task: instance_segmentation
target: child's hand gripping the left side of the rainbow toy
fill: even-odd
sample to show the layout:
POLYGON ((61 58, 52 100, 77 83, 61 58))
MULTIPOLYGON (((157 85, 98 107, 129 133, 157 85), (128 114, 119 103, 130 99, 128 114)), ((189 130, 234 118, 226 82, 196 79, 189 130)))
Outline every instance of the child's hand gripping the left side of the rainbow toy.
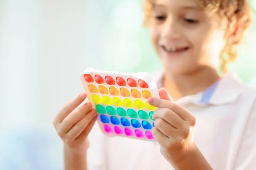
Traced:
POLYGON ((53 120, 53 125, 63 140, 64 147, 75 153, 84 153, 89 147, 87 136, 97 119, 96 111, 92 109, 90 102, 77 108, 84 99, 86 94, 82 93, 68 102, 53 120))

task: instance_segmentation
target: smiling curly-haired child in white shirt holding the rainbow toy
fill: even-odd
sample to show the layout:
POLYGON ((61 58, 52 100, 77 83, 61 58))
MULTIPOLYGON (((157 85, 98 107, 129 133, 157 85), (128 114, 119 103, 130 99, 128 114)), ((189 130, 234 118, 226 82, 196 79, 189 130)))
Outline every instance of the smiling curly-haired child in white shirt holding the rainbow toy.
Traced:
POLYGON ((255 170, 256 91, 225 73, 250 23, 247 0, 146 0, 145 23, 164 70, 157 142, 108 138, 82 93, 53 121, 66 170, 255 170), (170 98, 175 101, 173 102, 170 98), (76 109, 76 110, 75 110, 76 109), (87 139, 90 133, 90 147, 87 139), (94 139, 93 139, 94 138, 94 139))

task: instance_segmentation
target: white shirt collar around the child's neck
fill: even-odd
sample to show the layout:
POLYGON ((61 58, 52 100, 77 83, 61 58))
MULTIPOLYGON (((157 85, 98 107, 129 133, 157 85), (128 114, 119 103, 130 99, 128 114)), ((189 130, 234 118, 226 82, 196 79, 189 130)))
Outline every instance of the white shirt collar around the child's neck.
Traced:
MULTIPOLYGON (((153 74, 157 82, 157 87, 162 87, 163 71, 158 71, 153 74)), ((218 84, 212 96, 209 99, 208 105, 224 105, 234 102, 242 93, 246 86, 235 73, 227 73, 218 80, 218 84)), ((193 103, 195 105, 206 105, 201 103, 204 91, 195 95, 185 96, 176 101, 178 104, 193 103)))

